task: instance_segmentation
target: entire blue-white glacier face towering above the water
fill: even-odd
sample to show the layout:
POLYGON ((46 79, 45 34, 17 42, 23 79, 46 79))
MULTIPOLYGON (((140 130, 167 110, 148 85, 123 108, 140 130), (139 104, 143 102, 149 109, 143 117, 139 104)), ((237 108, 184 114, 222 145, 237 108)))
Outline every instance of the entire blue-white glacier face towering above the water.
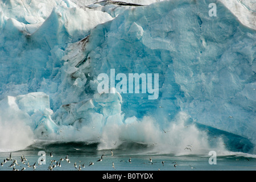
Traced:
POLYGON ((254 2, 217 1, 217 16, 210 3, 1 1, 0 151, 54 140, 255 154, 254 2), (98 93, 110 69, 158 73, 158 99, 98 93))

